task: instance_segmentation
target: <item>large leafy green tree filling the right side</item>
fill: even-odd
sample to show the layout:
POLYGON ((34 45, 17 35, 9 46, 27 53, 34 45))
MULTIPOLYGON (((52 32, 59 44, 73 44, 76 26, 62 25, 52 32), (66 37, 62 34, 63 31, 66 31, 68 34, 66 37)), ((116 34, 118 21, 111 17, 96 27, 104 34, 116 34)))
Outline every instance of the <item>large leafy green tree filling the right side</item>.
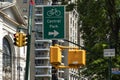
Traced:
MULTIPOLYGON (((90 50, 82 74, 92 80, 106 80, 108 64, 103 57, 104 48, 115 48, 117 55, 112 60, 116 62, 112 65, 120 67, 120 0, 78 0, 77 3, 79 25, 82 25, 79 31, 85 47, 90 50)), ((112 78, 117 80, 117 77, 112 78)))

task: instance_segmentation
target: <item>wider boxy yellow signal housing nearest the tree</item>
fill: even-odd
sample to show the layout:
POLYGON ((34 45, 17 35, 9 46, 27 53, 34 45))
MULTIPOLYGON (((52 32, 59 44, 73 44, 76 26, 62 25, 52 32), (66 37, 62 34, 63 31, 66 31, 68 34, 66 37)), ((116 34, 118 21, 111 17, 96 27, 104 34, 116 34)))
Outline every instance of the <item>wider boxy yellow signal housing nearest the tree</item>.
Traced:
POLYGON ((85 50, 69 50, 68 51, 68 66, 79 67, 86 64, 85 50))

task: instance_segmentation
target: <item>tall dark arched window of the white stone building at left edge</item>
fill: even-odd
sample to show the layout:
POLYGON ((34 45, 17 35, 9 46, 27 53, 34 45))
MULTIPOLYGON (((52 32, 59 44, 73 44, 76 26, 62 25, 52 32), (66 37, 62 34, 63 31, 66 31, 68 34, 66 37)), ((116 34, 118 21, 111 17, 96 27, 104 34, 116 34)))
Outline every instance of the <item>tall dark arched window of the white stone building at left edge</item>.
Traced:
POLYGON ((12 80, 12 54, 9 41, 3 38, 3 80, 12 80))

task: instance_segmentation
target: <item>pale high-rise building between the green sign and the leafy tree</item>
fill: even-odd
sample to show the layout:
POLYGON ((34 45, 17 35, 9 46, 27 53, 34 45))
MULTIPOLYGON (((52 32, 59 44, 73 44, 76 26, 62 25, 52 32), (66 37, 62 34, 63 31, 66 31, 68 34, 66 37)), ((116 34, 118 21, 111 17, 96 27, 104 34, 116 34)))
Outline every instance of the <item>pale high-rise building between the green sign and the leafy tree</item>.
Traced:
MULTIPOLYGON (((78 16, 79 15, 75 9, 73 9, 72 11, 66 12, 66 39, 76 44, 78 44, 78 16)), ((73 46, 73 47, 76 46, 69 42, 65 42, 64 45, 73 46)), ((65 56, 64 63, 67 65, 68 64, 67 51, 65 51, 64 56, 65 56)), ((64 79, 78 80, 79 79, 78 70, 65 69, 64 79)))

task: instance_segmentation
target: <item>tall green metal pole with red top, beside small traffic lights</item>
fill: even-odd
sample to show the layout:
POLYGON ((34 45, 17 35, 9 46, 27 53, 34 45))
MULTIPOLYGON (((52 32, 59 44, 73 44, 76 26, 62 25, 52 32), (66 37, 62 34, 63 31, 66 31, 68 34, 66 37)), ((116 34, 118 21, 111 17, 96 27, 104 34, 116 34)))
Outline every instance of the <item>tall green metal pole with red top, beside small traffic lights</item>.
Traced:
POLYGON ((27 54, 26 54, 26 69, 25 80, 29 80, 29 68, 30 68, 30 44, 31 44, 31 31, 32 31, 32 13, 33 13, 33 0, 29 1, 29 16, 28 16, 28 39, 27 39, 27 54))

